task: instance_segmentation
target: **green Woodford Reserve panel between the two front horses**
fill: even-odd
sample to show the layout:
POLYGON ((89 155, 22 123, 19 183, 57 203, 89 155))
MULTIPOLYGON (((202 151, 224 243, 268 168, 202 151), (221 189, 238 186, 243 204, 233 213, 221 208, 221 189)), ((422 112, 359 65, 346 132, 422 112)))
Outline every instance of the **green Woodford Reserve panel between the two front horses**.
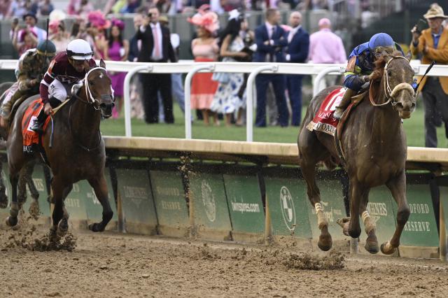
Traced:
POLYGON ((150 171, 160 226, 188 227, 188 208, 179 171, 150 171))

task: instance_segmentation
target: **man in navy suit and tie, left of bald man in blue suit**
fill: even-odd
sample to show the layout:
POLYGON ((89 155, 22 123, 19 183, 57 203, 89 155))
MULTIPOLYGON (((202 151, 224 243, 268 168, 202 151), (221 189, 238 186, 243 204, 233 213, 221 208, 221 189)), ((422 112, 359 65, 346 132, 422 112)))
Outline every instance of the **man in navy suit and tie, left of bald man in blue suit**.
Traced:
MULTIPOLYGON (((275 8, 266 11, 266 22, 255 29, 255 43, 257 50, 253 55, 253 62, 285 62, 284 47, 288 44, 286 32, 279 26, 280 13, 275 8)), ((288 126, 288 108, 285 98, 285 76, 260 74, 255 79, 257 87, 257 115, 255 126, 266 127, 266 90, 272 83, 279 109, 279 124, 288 126)))

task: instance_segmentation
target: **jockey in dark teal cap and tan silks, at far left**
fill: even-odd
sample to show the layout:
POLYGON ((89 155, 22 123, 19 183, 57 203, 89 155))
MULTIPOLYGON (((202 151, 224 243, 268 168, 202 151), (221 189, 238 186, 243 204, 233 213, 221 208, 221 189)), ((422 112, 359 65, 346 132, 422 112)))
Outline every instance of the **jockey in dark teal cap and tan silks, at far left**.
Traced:
POLYGON ((15 69, 17 82, 10 87, 1 105, 1 127, 8 126, 11 109, 15 101, 22 97, 31 97, 38 94, 43 73, 48 69, 48 65, 55 54, 55 44, 47 40, 41 41, 37 48, 27 50, 20 56, 18 67, 15 69))

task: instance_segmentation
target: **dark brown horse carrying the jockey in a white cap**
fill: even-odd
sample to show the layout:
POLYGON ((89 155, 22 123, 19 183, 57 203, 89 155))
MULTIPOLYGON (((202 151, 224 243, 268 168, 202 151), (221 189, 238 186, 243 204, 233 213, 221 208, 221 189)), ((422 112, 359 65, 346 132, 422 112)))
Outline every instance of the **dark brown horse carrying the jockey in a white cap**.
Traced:
MULTIPOLYGON (((113 108, 111 79, 107 76, 106 65, 101 60, 99 67, 87 71, 77 94, 52 115, 52 125, 48 125, 43 133, 43 150, 52 171, 52 203, 55 208, 52 213, 53 225, 50 234, 66 232, 66 210, 64 199, 71 191, 73 183, 86 179, 93 187, 99 202, 103 207, 101 222, 89 226, 93 232, 102 232, 111 220, 113 212, 109 205, 106 179, 104 178, 104 164, 106 153, 104 141, 99 132, 102 118, 109 118, 113 108), (54 142, 50 143, 53 130, 54 142)), ((9 139, 7 141, 8 165, 10 182, 13 187, 10 216, 6 224, 14 226, 18 222, 17 185, 18 174, 27 162, 38 158, 38 153, 25 155, 22 151, 22 117, 29 104, 36 97, 30 97, 18 108, 15 115, 9 139)))

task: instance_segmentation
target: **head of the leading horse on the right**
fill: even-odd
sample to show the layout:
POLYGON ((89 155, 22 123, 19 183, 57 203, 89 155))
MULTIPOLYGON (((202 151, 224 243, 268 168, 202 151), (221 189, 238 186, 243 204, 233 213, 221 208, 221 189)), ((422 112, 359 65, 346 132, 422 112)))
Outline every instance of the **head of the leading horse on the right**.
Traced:
POLYGON ((414 70, 409 64, 411 57, 410 52, 406 57, 401 52, 384 53, 375 63, 382 66, 380 85, 384 87, 384 95, 402 119, 410 118, 415 109, 414 70))

